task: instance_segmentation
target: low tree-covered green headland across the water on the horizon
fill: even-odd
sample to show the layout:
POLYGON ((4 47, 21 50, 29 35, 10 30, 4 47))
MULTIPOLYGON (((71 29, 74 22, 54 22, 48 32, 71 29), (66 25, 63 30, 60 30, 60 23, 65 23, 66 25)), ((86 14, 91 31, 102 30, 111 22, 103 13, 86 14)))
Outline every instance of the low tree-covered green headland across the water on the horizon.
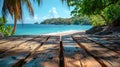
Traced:
POLYGON ((55 25, 91 25, 89 19, 85 17, 72 18, 51 18, 46 19, 41 24, 55 24, 55 25))

